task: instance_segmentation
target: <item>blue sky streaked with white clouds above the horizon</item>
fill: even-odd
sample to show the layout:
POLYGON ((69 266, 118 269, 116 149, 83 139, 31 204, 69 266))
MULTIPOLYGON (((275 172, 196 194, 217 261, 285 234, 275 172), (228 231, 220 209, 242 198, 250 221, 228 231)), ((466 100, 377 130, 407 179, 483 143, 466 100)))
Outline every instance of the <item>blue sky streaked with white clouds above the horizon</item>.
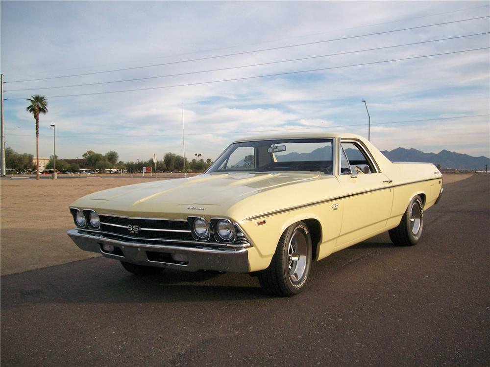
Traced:
POLYGON ((49 101, 41 156, 56 124, 60 158, 123 161, 182 154, 182 114, 189 159, 247 135, 367 137, 365 99, 381 150, 489 157, 488 17, 488 1, 1 1, 6 145, 35 153, 31 94, 49 101))

